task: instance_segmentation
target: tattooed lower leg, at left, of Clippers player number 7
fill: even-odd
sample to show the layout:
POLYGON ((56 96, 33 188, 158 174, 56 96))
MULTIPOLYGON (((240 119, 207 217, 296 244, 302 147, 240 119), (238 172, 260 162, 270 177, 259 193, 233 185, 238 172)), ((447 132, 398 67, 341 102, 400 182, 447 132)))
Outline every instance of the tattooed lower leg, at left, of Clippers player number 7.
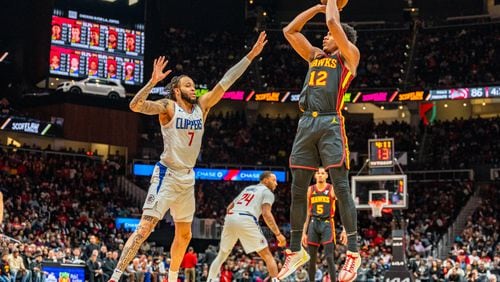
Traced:
POLYGON ((148 215, 142 216, 141 222, 139 223, 139 226, 137 226, 137 230, 132 234, 132 236, 130 236, 127 243, 123 247, 122 255, 116 268, 122 272, 125 271, 128 264, 137 255, 137 251, 139 251, 142 243, 146 241, 157 223, 158 219, 156 217, 148 215))

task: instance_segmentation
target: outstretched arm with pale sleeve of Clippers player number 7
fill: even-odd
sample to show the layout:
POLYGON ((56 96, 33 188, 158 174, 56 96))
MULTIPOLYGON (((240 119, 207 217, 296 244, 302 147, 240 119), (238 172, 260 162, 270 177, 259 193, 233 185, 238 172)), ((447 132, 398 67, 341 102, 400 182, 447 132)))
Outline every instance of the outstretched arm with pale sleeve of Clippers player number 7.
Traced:
POLYGON ((230 68, 225 74, 224 77, 217 83, 217 85, 208 93, 201 96, 199 99, 199 103, 203 111, 208 111, 211 107, 217 104, 224 93, 233 85, 233 83, 240 78, 240 76, 245 72, 250 63, 255 57, 257 57, 262 49, 267 43, 266 32, 262 31, 259 34, 259 38, 257 42, 253 45, 252 50, 248 52, 248 54, 241 59, 236 65, 230 68))

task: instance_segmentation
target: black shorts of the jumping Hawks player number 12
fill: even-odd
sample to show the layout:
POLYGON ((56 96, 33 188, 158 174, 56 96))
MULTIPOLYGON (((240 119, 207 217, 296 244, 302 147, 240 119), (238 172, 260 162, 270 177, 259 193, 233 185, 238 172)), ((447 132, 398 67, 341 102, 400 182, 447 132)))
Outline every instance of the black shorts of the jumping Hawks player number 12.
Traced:
POLYGON ((340 115, 303 115, 290 154, 290 167, 316 170, 345 164, 349 169, 349 148, 344 118, 340 115))

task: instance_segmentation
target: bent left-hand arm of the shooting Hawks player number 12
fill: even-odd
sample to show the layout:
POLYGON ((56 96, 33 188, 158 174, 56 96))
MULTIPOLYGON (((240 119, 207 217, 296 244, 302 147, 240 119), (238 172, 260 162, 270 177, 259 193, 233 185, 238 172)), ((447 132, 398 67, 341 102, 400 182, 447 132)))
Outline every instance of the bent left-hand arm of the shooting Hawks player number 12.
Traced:
POLYGON ((288 40, 290 45, 292 45, 295 52, 308 62, 315 57, 316 52, 322 51, 321 49, 312 46, 309 40, 307 40, 307 38, 301 33, 301 30, 314 16, 324 12, 325 5, 313 6, 300 13, 293 19, 293 21, 283 28, 283 34, 285 35, 286 40, 288 40))

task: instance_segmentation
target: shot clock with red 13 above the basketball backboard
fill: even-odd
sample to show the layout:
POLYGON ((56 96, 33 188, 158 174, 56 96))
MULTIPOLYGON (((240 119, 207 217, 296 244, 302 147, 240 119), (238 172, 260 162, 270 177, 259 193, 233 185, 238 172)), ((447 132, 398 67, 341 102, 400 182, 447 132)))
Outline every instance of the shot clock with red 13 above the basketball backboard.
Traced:
POLYGON ((394 138, 369 139, 368 158, 370 168, 394 166, 394 138))

